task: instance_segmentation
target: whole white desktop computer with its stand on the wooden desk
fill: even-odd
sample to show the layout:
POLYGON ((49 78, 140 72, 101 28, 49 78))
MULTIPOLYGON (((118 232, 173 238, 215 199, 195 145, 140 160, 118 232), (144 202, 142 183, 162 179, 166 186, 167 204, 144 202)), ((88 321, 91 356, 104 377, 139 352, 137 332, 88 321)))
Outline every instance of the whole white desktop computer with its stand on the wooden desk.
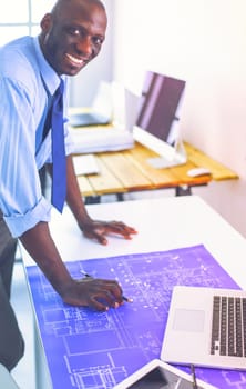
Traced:
POLYGON ((158 154, 147 160, 154 168, 171 168, 187 161, 180 133, 185 84, 184 80, 156 72, 145 74, 134 139, 158 154))

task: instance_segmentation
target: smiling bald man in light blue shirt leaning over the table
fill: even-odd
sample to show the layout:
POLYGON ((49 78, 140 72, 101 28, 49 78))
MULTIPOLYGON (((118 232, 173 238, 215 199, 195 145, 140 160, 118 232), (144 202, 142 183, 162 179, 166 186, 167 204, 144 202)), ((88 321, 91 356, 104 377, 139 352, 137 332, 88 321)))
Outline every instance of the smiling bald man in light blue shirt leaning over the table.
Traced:
MULTIPOLYGON (((51 205, 41 194, 39 169, 49 162, 51 130, 44 133, 50 101, 65 76, 75 76, 95 58, 105 39, 106 13, 100 0, 58 0, 41 21, 37 38, 24 37, 0 50, 0 362, 11 370, 23 340, 9 303, 19 238, 64 302, 98 310, 117 308, 122 290, 114 280, 72 279, 49 231, 51 205)), ((65 92, 64 92, 65 93, 65 92)), ((72 164, 64 129, 66 202, 81 231, 106 245, 107 233, 125 239, 136 231, 117 221, 92 220, 72 164)))

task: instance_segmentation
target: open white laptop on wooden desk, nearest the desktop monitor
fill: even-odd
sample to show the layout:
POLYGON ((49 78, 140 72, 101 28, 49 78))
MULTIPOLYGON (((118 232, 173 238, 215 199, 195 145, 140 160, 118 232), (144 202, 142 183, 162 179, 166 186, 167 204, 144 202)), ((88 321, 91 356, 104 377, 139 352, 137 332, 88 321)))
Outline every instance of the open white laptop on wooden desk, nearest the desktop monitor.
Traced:
POLYGON ((88 129, 71 128, 74 153, 127 150, 134 147, 139 96, 120 83, 113 83, 113 122, 110 126, 95 126, 88 129))

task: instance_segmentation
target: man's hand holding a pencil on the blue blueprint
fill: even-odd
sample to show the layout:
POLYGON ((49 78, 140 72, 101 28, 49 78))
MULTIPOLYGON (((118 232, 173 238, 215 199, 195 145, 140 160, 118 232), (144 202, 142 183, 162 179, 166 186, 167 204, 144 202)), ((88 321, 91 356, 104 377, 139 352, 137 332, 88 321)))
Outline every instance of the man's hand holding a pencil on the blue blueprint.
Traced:
POLYGON ((91 307, 99 311, 117 308, 123 303, 122 289, 116 281, 92 277, 72 280, 62 293, 62 299, 72 306, 91 307))

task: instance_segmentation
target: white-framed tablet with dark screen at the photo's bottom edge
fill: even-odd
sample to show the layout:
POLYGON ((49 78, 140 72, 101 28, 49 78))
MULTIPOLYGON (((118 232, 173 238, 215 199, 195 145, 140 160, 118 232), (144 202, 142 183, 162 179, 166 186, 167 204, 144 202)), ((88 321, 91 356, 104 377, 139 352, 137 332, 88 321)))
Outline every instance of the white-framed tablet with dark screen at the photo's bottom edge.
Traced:
POLYGON ((195 380, 191 376, 160 359, 154 359, 124 381, 120 382, 114 389, 216 389, 214 386, 195 380))

